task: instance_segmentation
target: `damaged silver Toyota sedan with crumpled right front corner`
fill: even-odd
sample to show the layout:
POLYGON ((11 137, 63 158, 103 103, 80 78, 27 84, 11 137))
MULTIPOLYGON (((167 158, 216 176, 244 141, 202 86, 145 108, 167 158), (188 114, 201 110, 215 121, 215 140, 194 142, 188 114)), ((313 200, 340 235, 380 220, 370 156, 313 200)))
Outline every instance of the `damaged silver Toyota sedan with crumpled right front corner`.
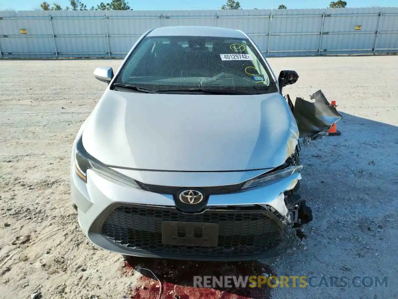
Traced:
POLYGON ((298 139, 341 116, 321 91, 293 106, 282 88, 297 73, 275 77, 242 31, 152 29, 115 73, 94 76, 107 88, 76 136, 70 176, 78 222, 96 246, 254 260, 275 255, 285 225, 312 219, 297 194, 298 139))

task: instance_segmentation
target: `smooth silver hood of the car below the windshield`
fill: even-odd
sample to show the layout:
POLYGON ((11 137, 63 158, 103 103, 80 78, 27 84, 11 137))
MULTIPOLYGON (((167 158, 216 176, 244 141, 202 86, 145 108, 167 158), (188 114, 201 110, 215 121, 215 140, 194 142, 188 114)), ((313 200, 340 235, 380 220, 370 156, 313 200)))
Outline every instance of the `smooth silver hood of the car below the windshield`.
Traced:
POLYGON ((116 167, 237 171, 277 167, 293 153, 297 122, 279 93, 146 94, 107 90, 83 145, 116 167))

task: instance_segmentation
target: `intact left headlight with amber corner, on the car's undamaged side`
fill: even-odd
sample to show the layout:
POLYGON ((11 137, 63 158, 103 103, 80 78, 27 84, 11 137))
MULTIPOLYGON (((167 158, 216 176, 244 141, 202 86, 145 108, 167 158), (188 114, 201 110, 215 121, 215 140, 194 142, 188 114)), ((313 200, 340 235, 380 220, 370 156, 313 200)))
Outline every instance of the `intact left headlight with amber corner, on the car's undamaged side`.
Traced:
POLYGON ((74 162, 76 174, 85 183, 87 183, 87 169, 92 169, 113 181, 117 181, 130 187, 140 188, 134 179, 107 167, 107 165, 92 157, 86 149, 84 149, 82 136, 80 136, 76 142, 76 147, 74 149, 74 162))

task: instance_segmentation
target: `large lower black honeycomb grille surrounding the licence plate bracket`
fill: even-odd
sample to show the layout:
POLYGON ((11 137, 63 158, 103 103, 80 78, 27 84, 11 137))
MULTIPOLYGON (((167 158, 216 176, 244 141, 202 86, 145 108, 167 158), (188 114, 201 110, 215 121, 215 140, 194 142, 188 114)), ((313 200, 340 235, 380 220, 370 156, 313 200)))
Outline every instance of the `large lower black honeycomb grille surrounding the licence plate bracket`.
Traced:
POLYGON ((118 205, 105 218, 100 233, 126 250, 183 256, 251 256, 268 252, 282 241, 282 226, 266 210, 206 210, 187 214, 174 208, 118 205), (162 221, 219 224, 217 247, 162 244, 162 221))

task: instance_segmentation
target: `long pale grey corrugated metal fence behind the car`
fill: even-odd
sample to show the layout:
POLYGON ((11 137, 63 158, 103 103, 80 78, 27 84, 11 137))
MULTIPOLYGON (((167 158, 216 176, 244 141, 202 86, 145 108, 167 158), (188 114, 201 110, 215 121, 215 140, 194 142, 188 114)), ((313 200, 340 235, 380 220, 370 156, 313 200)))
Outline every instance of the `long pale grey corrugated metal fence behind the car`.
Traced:
POLYGON ((266 56, 398 52, 398 8, 0 12, 0 58, 125 57, 150 28, 218 26, 266 56))

